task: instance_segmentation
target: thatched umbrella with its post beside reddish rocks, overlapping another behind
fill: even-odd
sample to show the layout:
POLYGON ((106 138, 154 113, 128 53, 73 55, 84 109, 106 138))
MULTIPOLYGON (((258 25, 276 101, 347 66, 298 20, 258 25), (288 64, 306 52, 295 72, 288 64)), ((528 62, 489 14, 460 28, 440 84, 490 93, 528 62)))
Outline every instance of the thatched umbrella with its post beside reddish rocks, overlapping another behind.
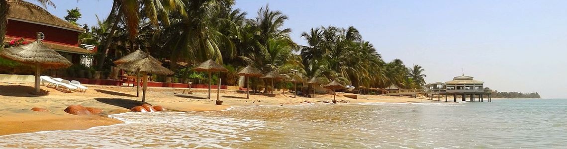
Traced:
POLYGON ((142 102, 146 102, 146 89, 147 89, 147 74, 174 74, 173 71, 163 67, 158 62, 151 59, 149 56, 139 59, 138 61, 126 62, 118 65, 119 69, 126 71, 136 71, 143 74, 143 94, 142 102))

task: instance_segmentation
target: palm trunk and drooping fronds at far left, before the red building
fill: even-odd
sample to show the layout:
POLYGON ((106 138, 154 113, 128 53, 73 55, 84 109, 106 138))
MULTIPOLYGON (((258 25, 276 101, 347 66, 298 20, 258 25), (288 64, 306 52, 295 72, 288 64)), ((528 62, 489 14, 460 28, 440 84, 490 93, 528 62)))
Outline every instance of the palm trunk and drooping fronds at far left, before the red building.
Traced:
POLYGON ((43 6, 43 8, 23 0, 0 0, 0 49, 4 48, 4 39, 6 37, 6 27, 8 23, 7 17, 10 13, 10 5, 12 3, 24 6, 31 10, 37 10, 43 13, 49 13, 44 9, 48 5, 55 7, 55 4, 53 4, 53 2, 51 2, 50 0, 35 0, 35 1, 41 3, 41 6, 43 6))

